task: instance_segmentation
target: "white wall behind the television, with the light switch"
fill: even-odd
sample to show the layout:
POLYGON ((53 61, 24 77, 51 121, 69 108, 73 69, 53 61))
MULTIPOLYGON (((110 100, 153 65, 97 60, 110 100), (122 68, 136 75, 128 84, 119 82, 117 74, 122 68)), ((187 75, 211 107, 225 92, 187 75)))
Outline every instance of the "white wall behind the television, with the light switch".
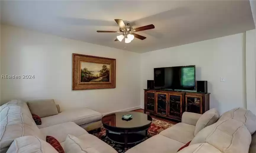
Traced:
MULTIPOLYGON (((171 41, 171 40, 170 40, 171 41)), ((245 33, 146 52, 141 56, 141 107, 146 80, 153 68, 196 65, 196 79, 208 81, 210 108, 222 114, 235 107, 246 108, 245 33), (225 82, 220 82, 220 77, 225 82)))

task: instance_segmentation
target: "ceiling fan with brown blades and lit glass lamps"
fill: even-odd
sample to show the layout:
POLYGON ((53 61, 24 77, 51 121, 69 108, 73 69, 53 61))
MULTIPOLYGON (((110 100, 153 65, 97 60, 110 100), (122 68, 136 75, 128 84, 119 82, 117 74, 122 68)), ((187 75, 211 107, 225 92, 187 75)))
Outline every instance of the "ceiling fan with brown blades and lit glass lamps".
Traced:
POLYGON ((146 37, 141 36, 139 34, 135 34, 134 32, 155 28, 153 24, 149 24, 147 26, 141 26, 138 28, 133 28, 130 26, 129 23, 123 22, 123 20, 121 19, 115 19, 115 21, 120 26, 119 31, 97 31, 97 32, 121 33, 121 35, 117 36, 117 39, 115 39, 115 41, 122 41, 125 38, 125 43, 130 43, 134 39, 134 37, 141 40, 146 39, 146 37))

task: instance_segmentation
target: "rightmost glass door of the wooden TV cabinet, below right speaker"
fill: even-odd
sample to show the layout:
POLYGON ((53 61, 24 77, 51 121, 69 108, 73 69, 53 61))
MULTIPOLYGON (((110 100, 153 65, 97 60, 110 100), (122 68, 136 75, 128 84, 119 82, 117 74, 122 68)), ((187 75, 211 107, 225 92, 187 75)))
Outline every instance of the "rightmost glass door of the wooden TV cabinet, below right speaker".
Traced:
POLYGON ((186 95, 186 112, 193 112, 202 114, 202 110, 200 109, 202 103, 202 97, 186 95))

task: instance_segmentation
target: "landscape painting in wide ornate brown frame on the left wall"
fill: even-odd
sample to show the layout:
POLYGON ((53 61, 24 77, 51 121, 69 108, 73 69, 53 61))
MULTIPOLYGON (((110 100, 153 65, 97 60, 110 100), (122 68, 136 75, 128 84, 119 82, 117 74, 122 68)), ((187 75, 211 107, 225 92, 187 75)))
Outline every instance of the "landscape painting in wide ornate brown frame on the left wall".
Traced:
POLYGON ((72 90, 115 88, 116 59, 75 53, 72 56, 72 90))

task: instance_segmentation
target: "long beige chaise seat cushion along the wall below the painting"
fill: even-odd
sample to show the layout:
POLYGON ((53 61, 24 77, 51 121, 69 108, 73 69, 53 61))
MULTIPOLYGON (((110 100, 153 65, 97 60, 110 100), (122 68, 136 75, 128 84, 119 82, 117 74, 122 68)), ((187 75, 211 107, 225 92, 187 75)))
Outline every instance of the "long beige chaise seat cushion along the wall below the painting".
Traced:
POLYGON ((101 113, 88 108, 63 110, 57 115, 41 118, 42 125, 38 125, 38 128, 49 127, 51 125, 61 124, 65 122, 75 122, 78 125, 82 125, 96 120, 100 120, 101 118, 101 113))

